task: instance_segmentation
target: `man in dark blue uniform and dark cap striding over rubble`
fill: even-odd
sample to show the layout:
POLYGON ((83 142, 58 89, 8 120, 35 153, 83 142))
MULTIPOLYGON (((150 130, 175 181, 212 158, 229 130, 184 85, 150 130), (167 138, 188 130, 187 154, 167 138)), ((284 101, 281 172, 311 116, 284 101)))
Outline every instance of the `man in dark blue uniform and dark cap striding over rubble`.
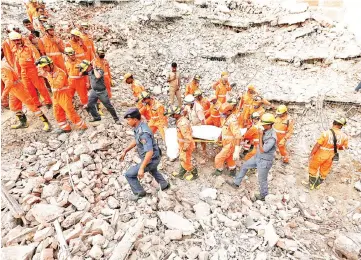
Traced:
POLYGON ((135 140, 120 154, 120 160, 123 160, 127 152, 137 146, 139 157, 142 162, 132 166, 125 173, 134 196, 130 199, 137 201, 146 195, 143 187, 140 185, 139 179, 144 177, 145 172, 153 175, 154 179, 160 184, 162 190, 169 188, 169 183, 164 179, 163 175, 158 172, 158 164, 161 158, 161 150, 154 140, 154 136, 150 128, 145 122, 142 122, 140 112, 137 108, 129 109, 125 116, 128 125, 134 129, 135 140))

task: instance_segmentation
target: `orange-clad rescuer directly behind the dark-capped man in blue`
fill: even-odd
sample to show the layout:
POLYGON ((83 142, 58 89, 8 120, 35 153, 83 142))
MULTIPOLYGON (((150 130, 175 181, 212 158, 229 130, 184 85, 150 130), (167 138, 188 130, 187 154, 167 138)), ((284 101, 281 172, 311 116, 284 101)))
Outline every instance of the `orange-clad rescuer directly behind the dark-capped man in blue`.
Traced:
POLYGON ((153 97, 151 97, 150 94, 146 91, 140 93, 139 101, 143 103, 143 107, 140 109, 140 113, 142 115, 146 113, 151 116, 150 120, 148 121, 150 130, 152 130, 153 134, 159 130, 159 133, 165 142, 165 129, 168 126, 168 118, 164 115, 164 106, 158 100, 155 100, 153 97))

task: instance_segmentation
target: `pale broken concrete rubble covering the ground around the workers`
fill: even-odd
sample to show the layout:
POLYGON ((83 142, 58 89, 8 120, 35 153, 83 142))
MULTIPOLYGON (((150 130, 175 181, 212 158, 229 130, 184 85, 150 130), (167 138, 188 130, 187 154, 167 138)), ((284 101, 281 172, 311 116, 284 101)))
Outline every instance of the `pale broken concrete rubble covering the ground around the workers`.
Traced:
MULTIPOLYGON (((349 31, 307 6, 252 1, 48 5, 64 39, 72 21, 92 24, 96 44, 108 49, 119 112, 133 105, 130 90, 119 79, 124 72, 134 72, 150 90, 161 87, 160 99, 167 103, 164 82, 172 61, 180 66, 182 83, 201 74, 207 96, 211 83, 227 70, 237 83, 234 92, 252 80, 266 98, 289 105, 296 121, 291 163, 276 161, 269 176, 271 194, 265 202, 253 203, 256 174, 249 173, 240 190, 231 190, 224 184, 230 177, 211 176, 219 148, 208 145, 207 157, 195 155, 202 169, 198 180, 174 179, 170 174, 178 170, 177 162, 163 158, 159 167, 172 188, 157 192, 147 175, 142 184, 151 196, 135 204, 126 199, 130 190, 122 173, 139 158, 133 151, 125 162, 118 160, 132 139, 125 122, 113 125, 106 114, 83 134, 55 136, 39 132, 33 115, 28 129, 10 131, 12 118, 5 111, 2 184, 14 199, 1 211, 5 256, 57 258, 59 231, 50 223, 58 219, 70 259, 359 257, 360 192, 354 185, 361 171, 361 113, 360 96, 352 90, 360 80, 361 51, 349 31), (350 150, 342 153, 326 185, 309 192, 302 185, 308 154, 335 114, 349 118, 350 150), (17 206, 24 211, 22 220, 9 211, 17 206)), ((19 23, 24 8, 4 1, 2 17, 3 25, 19 23)), ((45 113, 55 122, 51 111, 45 113)))

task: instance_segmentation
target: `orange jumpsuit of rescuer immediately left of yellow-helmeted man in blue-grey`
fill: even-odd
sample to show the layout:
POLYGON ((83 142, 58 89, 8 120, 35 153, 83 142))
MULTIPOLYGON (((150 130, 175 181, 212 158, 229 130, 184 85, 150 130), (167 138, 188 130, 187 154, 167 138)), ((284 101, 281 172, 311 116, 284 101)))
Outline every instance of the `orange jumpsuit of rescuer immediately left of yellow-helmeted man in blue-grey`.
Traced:
POLYGON ((236 168, 236 162, 233 160, 233 152, 237 140, 242 139, 238 124, 237 114, 231 114, 222 126, 222 150, 216 155, 215 167, 223 170, 224 162, 227 163, 230 170, 236 168))

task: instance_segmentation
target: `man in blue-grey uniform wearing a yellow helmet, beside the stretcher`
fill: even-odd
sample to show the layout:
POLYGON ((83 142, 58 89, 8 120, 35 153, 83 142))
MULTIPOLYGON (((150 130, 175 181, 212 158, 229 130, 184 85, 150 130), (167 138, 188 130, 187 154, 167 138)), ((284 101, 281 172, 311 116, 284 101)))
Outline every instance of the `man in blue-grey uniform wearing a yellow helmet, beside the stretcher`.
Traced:
POLYGON ((272 128, 274 122, 275 117, 272 114, 266 113, 261 117, 262 127, 259 128, 260 142, 256 155, 242 165, 234 181, 226 181, 233 188, 238 188, 248 169, 257 168, 260 194, 255 195, 256 200, 265 200, 268 195, 268 172, 273 165, 277 146, 276 132, 272 128))

